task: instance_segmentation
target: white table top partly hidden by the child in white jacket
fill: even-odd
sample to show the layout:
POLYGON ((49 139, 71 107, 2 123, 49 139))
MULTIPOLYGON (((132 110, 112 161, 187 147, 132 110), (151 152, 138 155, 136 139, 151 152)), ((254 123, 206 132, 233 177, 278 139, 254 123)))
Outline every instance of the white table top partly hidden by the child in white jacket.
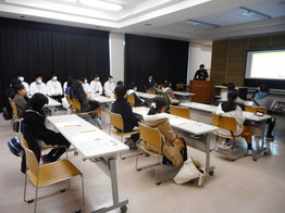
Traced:
MULTIPOLYGON (((209 112, 209 113, 215 113, 218 111, 216 105, 209 105, 205 103, 185 102, 185 103, 181 103, 181 105, 187 106, 194 110, 209 112)), ((245 112, 245 111, 243 111, 243 115, 246 117, 246 120, 253 121, 253 122, 261 122, 261 121, 264 121, 271 117, 270 115, 258 116, 251 112, 245 112)))

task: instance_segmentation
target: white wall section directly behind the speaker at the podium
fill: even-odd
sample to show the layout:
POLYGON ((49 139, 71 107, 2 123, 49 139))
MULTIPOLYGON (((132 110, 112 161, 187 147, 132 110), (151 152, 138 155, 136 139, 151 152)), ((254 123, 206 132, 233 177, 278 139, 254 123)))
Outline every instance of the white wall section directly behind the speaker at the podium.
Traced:
MULTIPOLYGON (((190 42, 189 78, 193 79, 200 64, 211 74, 212 42, 190 42)), ((210 75, 211 77, 211 75, 210 75)))

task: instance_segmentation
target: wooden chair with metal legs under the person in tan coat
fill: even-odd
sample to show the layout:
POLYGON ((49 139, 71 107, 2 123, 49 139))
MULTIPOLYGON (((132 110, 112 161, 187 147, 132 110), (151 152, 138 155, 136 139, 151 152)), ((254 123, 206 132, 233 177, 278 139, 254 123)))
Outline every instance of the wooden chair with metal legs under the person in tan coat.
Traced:
POLYGON ((148 168, 152 168, 152 167, 157 167, 156 170, 156 184, 160 185, 163 181, 168 181, 171 178, 168 178, 165 180, 159 180, 158 176, 159 176, 159 168, 160 165, 162 164, 162 158, 163 158, 163 153, 162 153, 162 140, 161 140, 161 133, 159 131, 158 128, 152 128, 149 126, 146 126, 145 124, 139 123, 139 150, 142 150, 144 152, 148 153, 151 156, 157 158, 157 163, 154 164, 150 164, 144 167, 138 167, 138 155, 139 155, 139 150, 138 150, 138 154, 137 154, 137 160, 136 160, 136 170, 137 171, 142 171, 142 170, 148 170, 148 168), (146 146, 147 142, 148 145, 151 145, 152 147, 158 149, 158 152, 152 151, 150 149, 148 149, 148 147, 146 146))

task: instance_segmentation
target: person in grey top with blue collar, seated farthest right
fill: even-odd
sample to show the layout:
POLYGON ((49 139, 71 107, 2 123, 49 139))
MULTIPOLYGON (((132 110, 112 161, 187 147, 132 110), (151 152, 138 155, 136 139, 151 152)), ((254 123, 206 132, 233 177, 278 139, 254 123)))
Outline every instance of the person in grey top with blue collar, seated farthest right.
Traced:
MULTIPOLYGON (((265 84, 259 85, 258 92, 252 98, 252 104, 267 108, 269 114, 272 114, 274 111, 280 109, 278 102, 269 96, 269 88, 265 84)), ((275 126, 275 118, 269 118, 267 123, 269 124, 267 138, 274 139, 272 131, 275 126)))

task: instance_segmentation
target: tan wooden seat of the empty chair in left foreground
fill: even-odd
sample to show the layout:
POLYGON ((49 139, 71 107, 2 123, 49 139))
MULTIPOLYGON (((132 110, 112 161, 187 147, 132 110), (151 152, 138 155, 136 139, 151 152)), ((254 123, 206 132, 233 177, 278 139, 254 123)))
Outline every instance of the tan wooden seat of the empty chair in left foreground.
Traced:
MULTIPOLYGON (((33 173, 28 174, 32 184, 37 186, 37 177, 33 173)), ((38 187, 62 181, 76 175, 82 175, 82 173, 69 160, 44 164, 39 166, 38 187), (50 171, 52 171, 52 173, 50 171)))

